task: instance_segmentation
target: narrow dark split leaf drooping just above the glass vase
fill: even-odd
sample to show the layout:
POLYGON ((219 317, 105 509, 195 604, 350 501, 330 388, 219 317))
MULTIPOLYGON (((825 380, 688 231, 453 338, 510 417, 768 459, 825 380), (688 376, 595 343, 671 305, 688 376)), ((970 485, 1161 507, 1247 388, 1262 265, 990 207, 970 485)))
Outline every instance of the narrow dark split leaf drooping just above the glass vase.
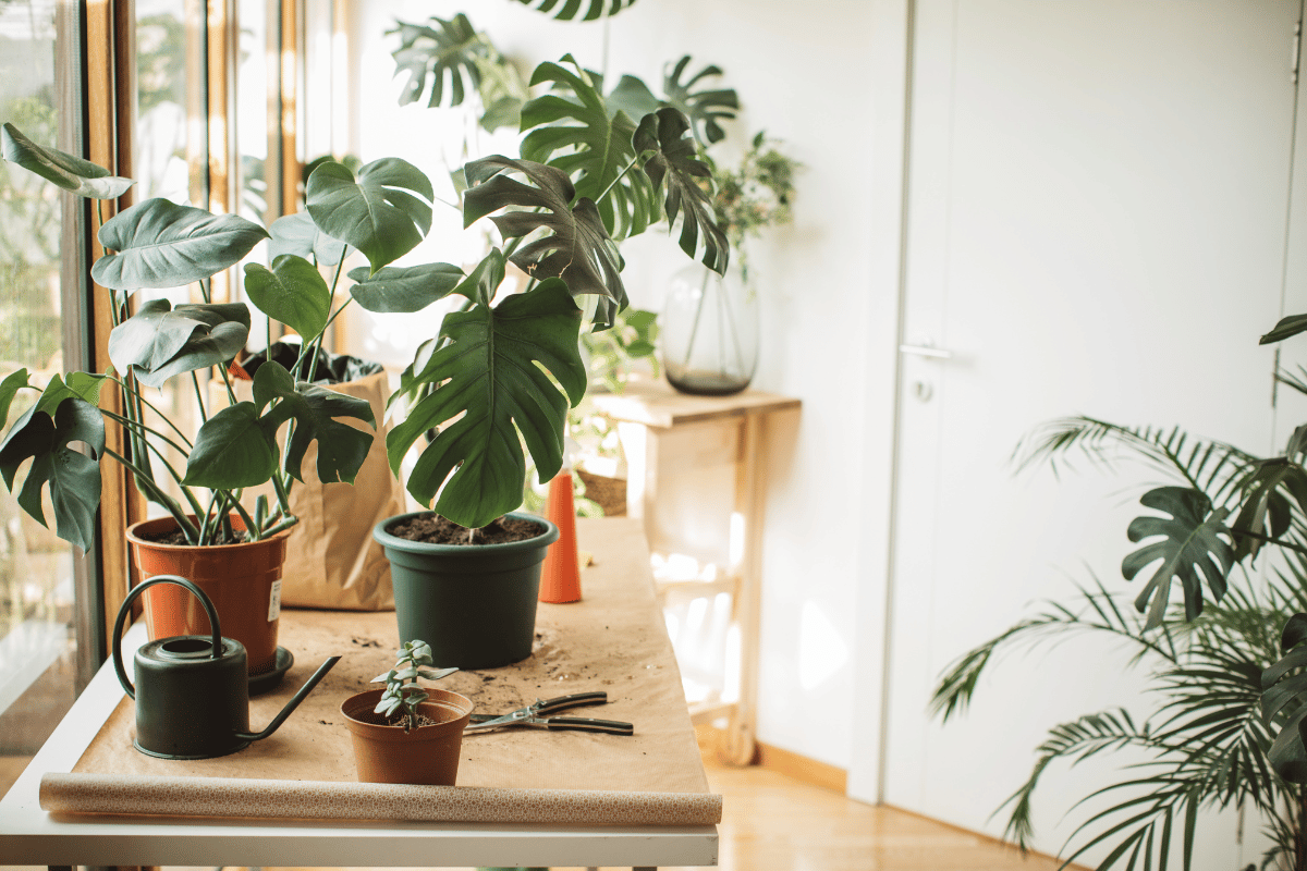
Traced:
POLYGON ((711 179, 712 171, 707 163, 698 159, 694 138, 686 138, 690 123, 674 108, 660 108, 654 115, 640 119, 635 131, 635 148, 639 151, 654 151, 644 162, 644 172, 654 187, 667 185, 664 208, 667 221, 676 225, 681 217, 681 251, 694 257, 703 240, 702 262, 720 276, 727 273, 731 259, 731 245, 721 227, 716 225, 712 200, 699 185, 698 179, 711 179))

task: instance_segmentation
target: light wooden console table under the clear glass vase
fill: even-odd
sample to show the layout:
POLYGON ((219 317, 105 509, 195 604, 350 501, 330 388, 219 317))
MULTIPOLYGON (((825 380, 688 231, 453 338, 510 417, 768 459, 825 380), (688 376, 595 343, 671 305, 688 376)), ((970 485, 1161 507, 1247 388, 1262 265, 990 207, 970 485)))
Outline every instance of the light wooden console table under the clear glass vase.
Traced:
POLYGON ((676 475, 694 475, 714 465, 735 467, 733 513, 742 521, 731 529, 725 580, 661 584, 703 595, 732 595, 732 624, 740 637, 740 686, 736 703, 708 701, 691 706, 694 722, 728 716, 723 760, 753 761, 757 730, 758 624, 762 605, 762 530, 766 509, 769 422, 782 411, 797 411, 800 400, 761 390, 733 396, 689 396, 665 381, 633 380, 626 390, 593 393, 605 417, 617 422, 626 453, 626 513, 642 518, 654 542, 660 484, 676 475))

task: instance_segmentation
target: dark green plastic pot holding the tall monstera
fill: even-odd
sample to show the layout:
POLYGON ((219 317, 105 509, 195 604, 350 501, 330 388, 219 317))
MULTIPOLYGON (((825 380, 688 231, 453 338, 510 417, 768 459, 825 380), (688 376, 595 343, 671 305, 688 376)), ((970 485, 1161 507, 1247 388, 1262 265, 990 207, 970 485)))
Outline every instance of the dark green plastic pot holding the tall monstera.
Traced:
POLYGON ((430 512, 376 524, 372 538, 391 562, 400 641, 431 645, 440 667, 494 669, 531 656, 536 636, 540 569, 558 528, 544 517, 510 513, 545 528, 544 534, 503 545, 430 545, 387 529, 430 512))

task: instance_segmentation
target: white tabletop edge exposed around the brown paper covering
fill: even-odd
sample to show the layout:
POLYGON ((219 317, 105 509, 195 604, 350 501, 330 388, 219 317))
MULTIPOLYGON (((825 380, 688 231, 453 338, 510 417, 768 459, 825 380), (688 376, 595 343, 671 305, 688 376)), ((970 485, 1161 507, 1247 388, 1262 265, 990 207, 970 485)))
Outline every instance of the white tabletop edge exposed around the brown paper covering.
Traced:
MULTIPOLYGON (((124 639, 124 659, 145 627, 124 639)), ((61 816, 41 810, 46 772, 71 772, 123 699, 105 663, 0 800, 0 864, 711 866, 718 828, 61 816)))

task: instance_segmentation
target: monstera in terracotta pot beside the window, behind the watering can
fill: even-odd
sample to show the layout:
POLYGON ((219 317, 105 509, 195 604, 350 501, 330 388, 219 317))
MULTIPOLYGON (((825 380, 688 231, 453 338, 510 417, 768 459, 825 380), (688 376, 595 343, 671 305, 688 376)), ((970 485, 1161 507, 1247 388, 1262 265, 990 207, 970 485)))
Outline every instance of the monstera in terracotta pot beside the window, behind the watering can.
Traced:
MULTIPOLYGON (((84 197, 116 198, 132 184, 41 146, 9 124, 0 144, 7 161, 84 197)), ((89 548, 102 488, 99 464, 105 457, 122 464, 163 513, 127 530, 142 573, 175 573, 199 584, 216 603, 223 631, 248 649, 252 675, 276 673, 289 656, 276 644, 278 582, 285 539, 297 524, 289 492, 302 481, 306 449, 318 443, 320 481, 353 482, 374 437, 367 401, 311 384, 323 332, 350 303, 337 300, 337 287, 328 286, 318 266, 335 262, 352 245, 380 269, 421 239, 431 217, 426 178, 403 161, 370 163, 357 176, 331 163, 315 171, 314 182, 310 214, 281 218, 271 232, 237 215, 162 198, 108 219, 91 276, 111 298, 112 368, 54 375, 42 388, 26 370, 0 383, 0 423, 20 393, 39 390, 0 441, 8 488, 20 486, 18 473, 27 467, 18 504, 46 524, 42 498, 48 487, 56 534, 89 548), (378 201, 384 201, 384 214, 374 208, 378 201), (263 239, 271 239, 272 266, 244 266, 246 296, 269 323, 298 333, 302 351, 289 368, 277 362, 260 366, 252 398, 237 401, 233 363, 250 338, 251 311, 246 303, 212 302, 209 282, 263 239), (192 282, 200 283, 204 302, 133 299, 142 289, 192 282), (205 400, 201 373, 223 385, 225 402, 205 400), (153 389, 173 379, 195 387, 203 422, 196 432, 186 432, 176 415, 158 407, 153 389), (98 407, 105 389, 120 392, 120 411, 98 407), (110 447, 106 427, 122 430, 122 452, 110 447), (242 505, 244 488, 269 482, 274 500, 260 498, 252 509, 242 505)), ((188 615, 166 592, 150 590, 146 599, 153 636, 208 631, 192 624, 203 615, 188 615)))

